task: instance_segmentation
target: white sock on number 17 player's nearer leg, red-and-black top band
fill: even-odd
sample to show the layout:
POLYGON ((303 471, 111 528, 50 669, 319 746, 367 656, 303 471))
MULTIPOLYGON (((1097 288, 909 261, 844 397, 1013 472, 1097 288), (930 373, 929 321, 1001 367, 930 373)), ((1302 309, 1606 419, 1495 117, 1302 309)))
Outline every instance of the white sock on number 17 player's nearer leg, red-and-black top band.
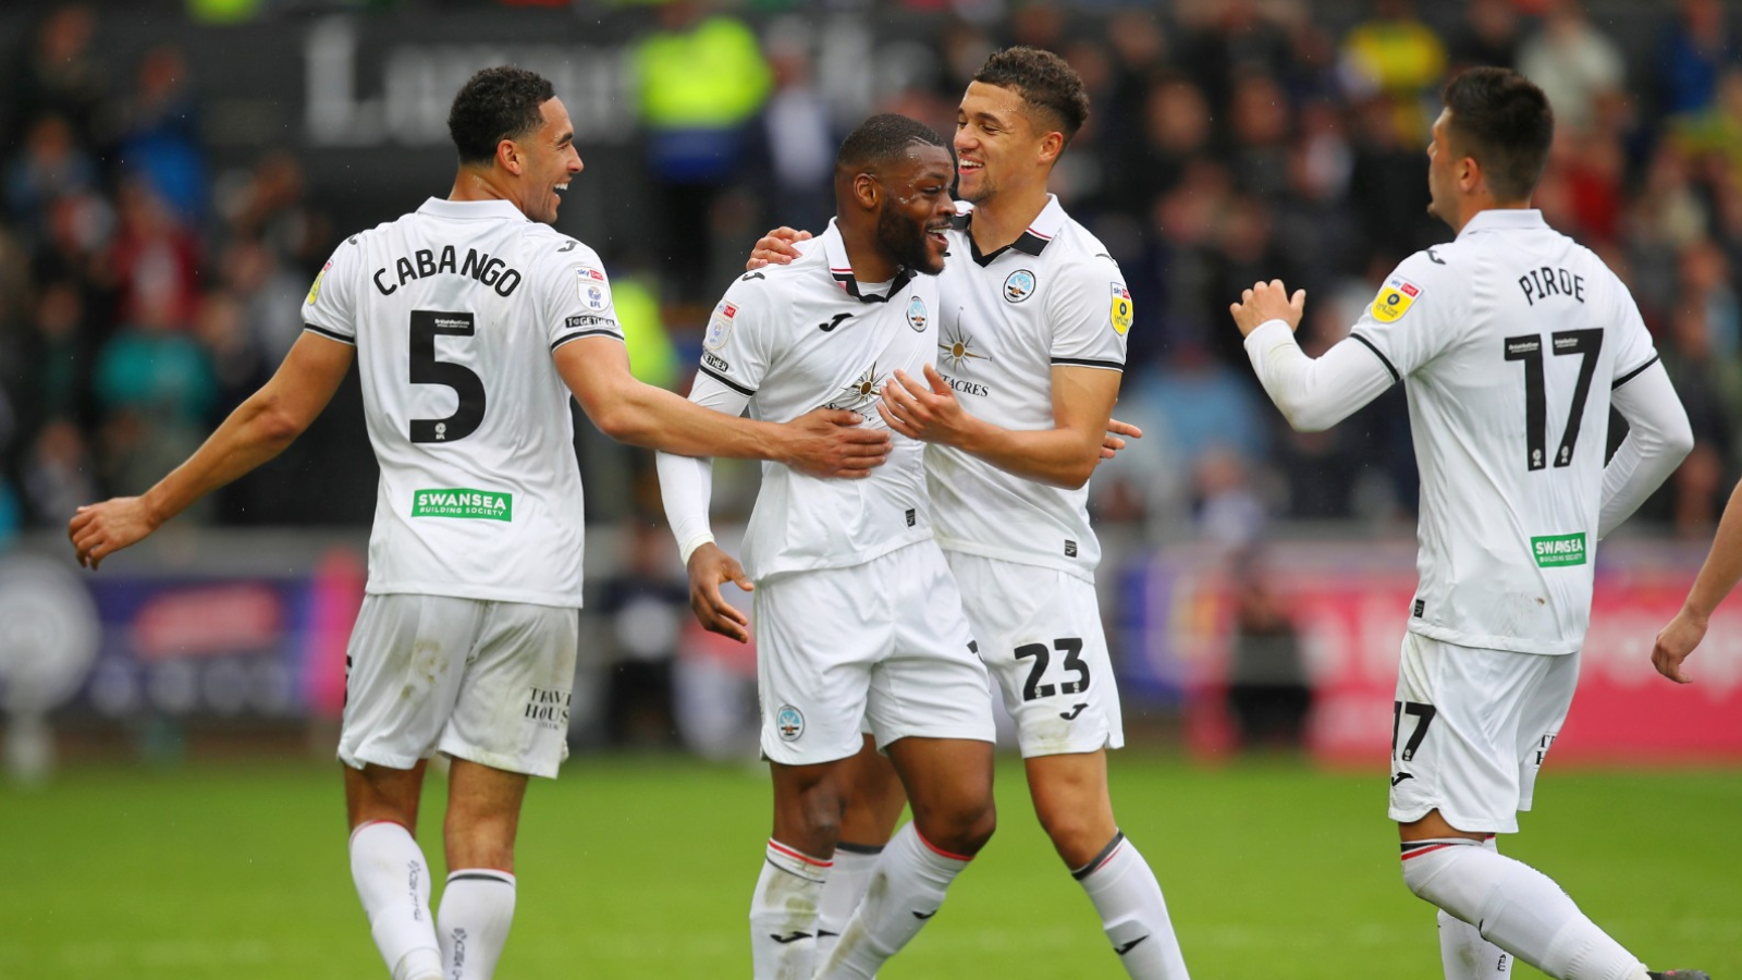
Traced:
POLYGON ((1404 844, 1404 884, 1556 980, 1644 980, 1644 964, 1536 868, 1453 837, 1404 844))

